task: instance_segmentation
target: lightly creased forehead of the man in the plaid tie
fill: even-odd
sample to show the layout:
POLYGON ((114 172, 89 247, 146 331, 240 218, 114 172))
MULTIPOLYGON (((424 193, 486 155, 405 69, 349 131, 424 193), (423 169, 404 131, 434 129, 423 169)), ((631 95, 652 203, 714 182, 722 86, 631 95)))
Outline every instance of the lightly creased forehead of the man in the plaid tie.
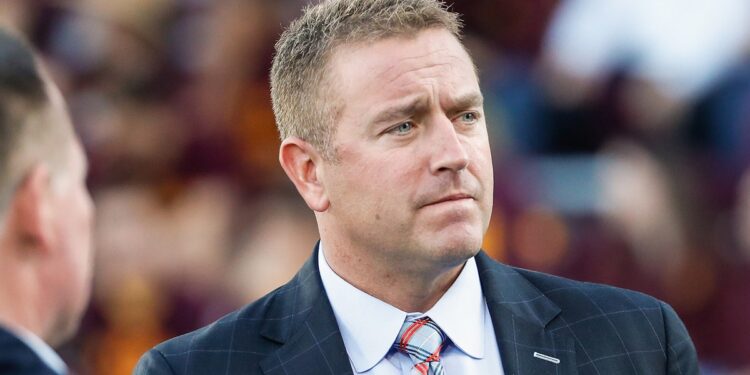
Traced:
POLYGON ((329 74, 344 103, 393 99, 436 86, 479 90, 471 58, 444 29, 340 46, 331 58, 329 74))

